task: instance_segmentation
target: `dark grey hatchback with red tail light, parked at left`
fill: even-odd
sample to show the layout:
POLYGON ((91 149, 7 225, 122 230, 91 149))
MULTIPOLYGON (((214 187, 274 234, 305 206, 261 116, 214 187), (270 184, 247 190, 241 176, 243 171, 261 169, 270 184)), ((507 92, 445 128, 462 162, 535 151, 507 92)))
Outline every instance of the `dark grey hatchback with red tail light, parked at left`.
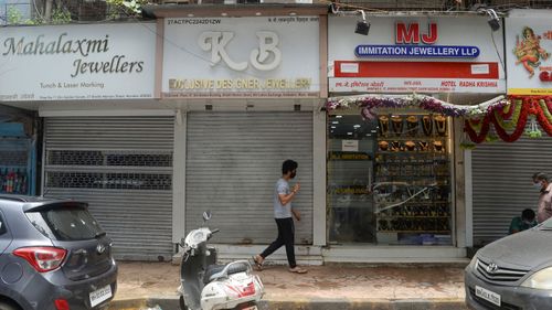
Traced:
POLYGON ((0 310, 105 309, 112 240, 86 203, 0 195, 0 310))

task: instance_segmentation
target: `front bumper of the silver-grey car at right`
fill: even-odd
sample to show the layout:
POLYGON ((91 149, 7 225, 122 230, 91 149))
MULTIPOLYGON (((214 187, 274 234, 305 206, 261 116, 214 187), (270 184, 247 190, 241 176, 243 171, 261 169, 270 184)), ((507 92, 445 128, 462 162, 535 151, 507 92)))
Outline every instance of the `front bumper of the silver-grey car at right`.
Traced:
POLYGON ((489 284, 476 277, 469 269, 464 272, 464 286, 466 304, 474 310, 552 309, 552 291, 489 284), (477 297, 476 286, 499 295, 500 306, 477 297))

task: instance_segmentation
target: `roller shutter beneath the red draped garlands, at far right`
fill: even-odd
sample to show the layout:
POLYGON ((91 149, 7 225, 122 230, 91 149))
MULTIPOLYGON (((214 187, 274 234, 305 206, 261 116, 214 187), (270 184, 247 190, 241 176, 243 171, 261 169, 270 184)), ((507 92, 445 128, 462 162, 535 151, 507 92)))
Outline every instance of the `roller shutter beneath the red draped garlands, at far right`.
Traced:
POLYGON ((550 137, 523 137, 513 143, 482 143, 473 151, 474 245, 506 236, 510 221, 523 209, 537 212, 539 191, 531 177, 552 172, 550 149, 550 137))

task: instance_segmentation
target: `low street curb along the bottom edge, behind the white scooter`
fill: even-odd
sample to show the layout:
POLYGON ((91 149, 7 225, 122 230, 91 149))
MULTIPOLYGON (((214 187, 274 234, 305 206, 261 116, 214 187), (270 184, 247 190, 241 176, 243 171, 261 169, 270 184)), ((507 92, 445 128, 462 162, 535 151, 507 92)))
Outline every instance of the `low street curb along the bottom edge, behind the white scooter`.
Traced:
MULTIPOLYGON (((109 310, 140 310, 159 306, 177 310, 178 297, 113 300, 109 310)), ((259 310, 466 310, 463 299, 298 299, 262 300, 259 310)))

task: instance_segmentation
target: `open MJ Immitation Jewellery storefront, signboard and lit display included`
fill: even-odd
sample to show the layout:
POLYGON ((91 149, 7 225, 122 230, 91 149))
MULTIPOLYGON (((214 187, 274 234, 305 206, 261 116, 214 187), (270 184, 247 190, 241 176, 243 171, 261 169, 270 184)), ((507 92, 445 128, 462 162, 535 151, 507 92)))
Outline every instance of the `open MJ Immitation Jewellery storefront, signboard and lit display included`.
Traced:
POLYGON ((329 18, 325 260, 460 259, 467 168, 452 116, 503 94, 502 35, 475 14, 368 17, 368 35, 359 20, 329 18))

